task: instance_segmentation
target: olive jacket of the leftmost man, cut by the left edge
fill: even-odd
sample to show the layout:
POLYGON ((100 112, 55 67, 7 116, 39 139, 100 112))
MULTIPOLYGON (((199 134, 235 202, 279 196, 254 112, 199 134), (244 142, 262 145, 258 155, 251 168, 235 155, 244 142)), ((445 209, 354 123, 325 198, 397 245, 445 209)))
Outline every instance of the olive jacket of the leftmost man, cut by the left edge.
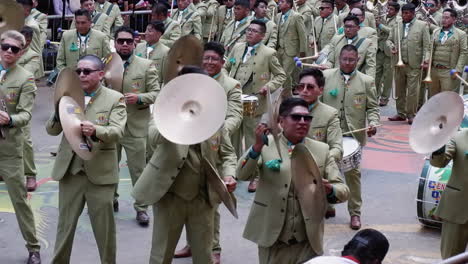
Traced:
POLYGON ((31 120, 36 90, 32 73, 18 65, 11 67, 0 80, 0 96, 11 118, 11 125, 3 126, 6 139, 0 140, 0 157, 4 162, 23 157, 22 127, 31 120))

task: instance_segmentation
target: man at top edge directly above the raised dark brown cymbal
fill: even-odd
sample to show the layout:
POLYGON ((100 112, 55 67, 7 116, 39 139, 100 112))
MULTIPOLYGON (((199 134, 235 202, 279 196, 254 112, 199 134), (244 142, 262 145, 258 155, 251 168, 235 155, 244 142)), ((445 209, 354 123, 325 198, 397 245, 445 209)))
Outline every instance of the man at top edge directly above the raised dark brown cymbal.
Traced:
POLYGON ((181 36, 192 34, 202 40, 202 22, 195 6, 190 0, 177 0, 178 9, 171 18, 180 24, 181 36))

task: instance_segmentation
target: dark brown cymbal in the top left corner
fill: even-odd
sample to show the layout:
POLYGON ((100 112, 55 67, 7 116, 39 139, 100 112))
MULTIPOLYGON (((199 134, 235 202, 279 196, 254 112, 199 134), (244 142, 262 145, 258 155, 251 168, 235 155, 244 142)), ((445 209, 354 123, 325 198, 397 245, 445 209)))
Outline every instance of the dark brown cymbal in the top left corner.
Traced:
POLYGON ((20 31, 23 26, 23 6, 14 0, 2 0, 0 2, 0 34, 7 30, 20 31))

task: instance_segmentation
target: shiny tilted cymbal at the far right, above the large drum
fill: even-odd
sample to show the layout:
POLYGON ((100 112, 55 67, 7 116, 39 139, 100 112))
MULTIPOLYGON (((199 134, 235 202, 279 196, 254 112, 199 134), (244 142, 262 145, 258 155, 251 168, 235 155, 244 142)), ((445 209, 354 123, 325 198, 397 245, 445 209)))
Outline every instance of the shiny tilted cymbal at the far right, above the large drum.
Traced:
POLYGON ((455 92, 431 97, 419 109, 409 133, 409 143, 416 153, 427 154, 447 144, 464 117, 463 99, 455 92))

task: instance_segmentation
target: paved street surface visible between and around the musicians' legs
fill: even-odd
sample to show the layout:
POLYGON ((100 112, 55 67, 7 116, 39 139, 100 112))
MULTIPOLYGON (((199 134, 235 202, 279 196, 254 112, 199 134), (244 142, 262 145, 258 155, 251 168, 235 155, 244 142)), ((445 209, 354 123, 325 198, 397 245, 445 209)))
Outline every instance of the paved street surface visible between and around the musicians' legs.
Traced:
MULTIPOLYGON (((58 185, 49 177, 54 162, 50 152, 56 151, 61 136, 48 136, 44 128, 52 112, 52 97, 51 88, 39 88, 32 120, 40 186, 36 192, 30 193, 29 198, 41 239, 43 263, 50 263, 52 258, 58 219, 58 185)), ((439 259, 439 231, 422 227, 416 216, 416 195, 424 157, 412 152, 408 146, 408 124, 386 121, 386 117, 393 114, 394 105, 382 108, 383 127, 378 129, 377 136, 370 139, 364 150, 361 164, 363 228, 378 229, 388 237, 390 252, 384 263, 434 263, 439 259)), ((120 212, 115 215, 118 263, 148 263, 152 223, 148 228, 136 224, 125 160, 121 163, 120 178, 120 212)), ((258 263, 256 246, 242 238, 254 197, 254 194, 247 193, 247 184, 240 183, 236 190, 239 219, 234 219, 224 206, 220 207, 222 263, 225 264, 258 263)), ((324 238, 326 254, 331 255, 339 254, 355 234, 348 227, 346 204, 336 208, 337 217, 326 221, 324 238)), ((27 251, 3 183, 0 183, 0 234, 0 263, 25 263, 27 251)), ((184 244, 185 234, 178 247, 184 244)), ((77 228, 72 263, 99 263, 86 209, 77 228)), ((175 260, 174 263, 191 263, 191 259, 175 260)))

